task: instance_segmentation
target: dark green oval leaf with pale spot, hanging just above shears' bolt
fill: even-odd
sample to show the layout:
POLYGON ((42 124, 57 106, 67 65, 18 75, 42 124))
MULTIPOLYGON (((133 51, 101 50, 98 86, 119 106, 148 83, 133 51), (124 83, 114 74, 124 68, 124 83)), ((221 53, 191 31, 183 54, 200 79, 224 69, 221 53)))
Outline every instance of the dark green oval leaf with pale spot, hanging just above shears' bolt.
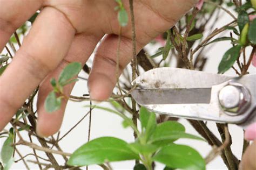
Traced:
POLYGON ((240 45, 236 45, 224 54, 223 59, 219 63, 218 73, 225 73, 228 69, 230 69, 234 62, 239 58, 240 55, 240 45))

